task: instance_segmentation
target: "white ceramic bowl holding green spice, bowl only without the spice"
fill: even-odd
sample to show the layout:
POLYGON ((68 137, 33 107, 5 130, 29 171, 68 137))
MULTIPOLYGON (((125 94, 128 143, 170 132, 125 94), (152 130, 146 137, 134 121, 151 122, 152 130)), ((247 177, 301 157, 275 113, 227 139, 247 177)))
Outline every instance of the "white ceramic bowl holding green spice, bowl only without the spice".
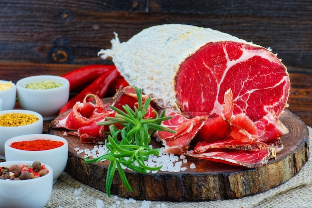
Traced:
POLYGON ((54 75, 38 75, 23 78, 16 83, 17 98, 23 109, 33 110, 40 113, 43 120, 55 118, 61 107, 69 99, 69 81, 63 77, 54 75), (33 90, 25 86, 33 82, 55 81, 62 84, 61 87, 33 90))

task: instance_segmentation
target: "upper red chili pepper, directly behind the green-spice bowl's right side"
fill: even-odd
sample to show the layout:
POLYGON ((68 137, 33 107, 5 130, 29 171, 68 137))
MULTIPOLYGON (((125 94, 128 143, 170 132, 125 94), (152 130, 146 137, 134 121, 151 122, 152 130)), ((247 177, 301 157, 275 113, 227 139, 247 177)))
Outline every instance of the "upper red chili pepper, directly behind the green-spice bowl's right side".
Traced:
POLYGON ((104 72, 113 70, 116 70, 115 65, 88 65, 68 72, 62 77, 69 81, 69 90, 72 92, 80 86, 90 84, 104 72))

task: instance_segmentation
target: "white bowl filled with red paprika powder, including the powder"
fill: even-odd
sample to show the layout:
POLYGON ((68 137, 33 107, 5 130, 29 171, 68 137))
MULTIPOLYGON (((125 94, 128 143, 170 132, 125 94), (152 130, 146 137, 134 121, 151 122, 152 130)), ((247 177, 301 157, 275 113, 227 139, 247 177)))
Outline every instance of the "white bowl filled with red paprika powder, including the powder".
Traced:
POLYGON ((68 158, 68 142, 52 134, 29 134, 5 142, 5 160, 40 161, 53 169, 53 184, 64 172, 68 158))

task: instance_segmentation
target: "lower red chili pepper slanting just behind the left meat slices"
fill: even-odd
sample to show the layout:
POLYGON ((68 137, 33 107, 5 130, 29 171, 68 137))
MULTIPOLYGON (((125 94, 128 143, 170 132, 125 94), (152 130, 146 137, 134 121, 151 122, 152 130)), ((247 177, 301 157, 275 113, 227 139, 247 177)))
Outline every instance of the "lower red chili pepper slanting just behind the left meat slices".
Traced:
MULTIPOLYGON (((104 98, 107 94, 109 86, 118 77, 119 72, 116 70, 111 70, 102 73, 93 83, 91 83, 87 88, 81 91, 78 95, 72 98, 67 104, 65 104, 59 111, 59 114, 71 109, 77 102, 83 102, 84 98, 88 94, 97 95, 99 98, 104 98)), ((90 98, 91 99, 91 98, 90 98)), ((87 100, 89 102, 90 100, 87 100)))

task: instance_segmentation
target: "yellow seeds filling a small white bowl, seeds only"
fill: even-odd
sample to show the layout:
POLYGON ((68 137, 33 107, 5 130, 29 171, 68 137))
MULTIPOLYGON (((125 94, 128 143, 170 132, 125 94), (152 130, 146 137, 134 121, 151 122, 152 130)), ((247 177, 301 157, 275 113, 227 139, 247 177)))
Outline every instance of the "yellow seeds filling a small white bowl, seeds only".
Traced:
POLYGON ((6 113, 0 115, 0 126, 22 126, 36 122, 39 118, 33 114, 6 113))

